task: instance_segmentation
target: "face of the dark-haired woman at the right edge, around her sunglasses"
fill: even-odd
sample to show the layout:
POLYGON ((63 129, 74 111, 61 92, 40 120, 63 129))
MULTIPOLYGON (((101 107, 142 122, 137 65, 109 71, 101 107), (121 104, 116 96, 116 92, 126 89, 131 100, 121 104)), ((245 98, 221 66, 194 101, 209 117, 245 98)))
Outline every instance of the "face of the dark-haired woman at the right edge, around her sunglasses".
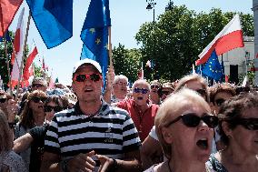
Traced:
MULTIPOLYGON (((258 107, 243 111, 242 118, 258 118, 258 107)), ((230 145, 243 150, 245 154, 251 156, 258 155, 258 130, 249 130, 242 125, 236 126, 229 131, 231 137, 230 145)))

